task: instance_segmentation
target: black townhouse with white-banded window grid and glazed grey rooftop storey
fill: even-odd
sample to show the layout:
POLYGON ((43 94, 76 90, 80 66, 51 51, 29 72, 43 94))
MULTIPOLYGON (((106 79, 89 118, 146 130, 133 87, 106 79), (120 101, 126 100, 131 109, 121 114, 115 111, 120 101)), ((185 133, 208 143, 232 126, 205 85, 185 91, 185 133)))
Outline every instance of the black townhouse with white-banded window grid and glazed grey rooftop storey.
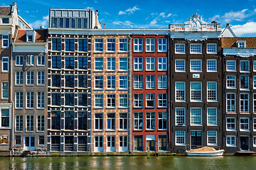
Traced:
POLYGON ((90 8, 49 10, 48 152, 90 152, 90 30, 101 28, 97 18, 90 8))

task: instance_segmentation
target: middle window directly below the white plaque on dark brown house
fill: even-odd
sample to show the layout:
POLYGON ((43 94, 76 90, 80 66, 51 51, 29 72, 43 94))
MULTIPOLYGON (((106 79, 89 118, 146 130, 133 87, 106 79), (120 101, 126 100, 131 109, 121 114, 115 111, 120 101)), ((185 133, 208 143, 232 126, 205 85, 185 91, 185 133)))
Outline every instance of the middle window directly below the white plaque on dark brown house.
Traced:
POLYGON ((202 82, 191 82, 191 101, 202 101, 202 82))

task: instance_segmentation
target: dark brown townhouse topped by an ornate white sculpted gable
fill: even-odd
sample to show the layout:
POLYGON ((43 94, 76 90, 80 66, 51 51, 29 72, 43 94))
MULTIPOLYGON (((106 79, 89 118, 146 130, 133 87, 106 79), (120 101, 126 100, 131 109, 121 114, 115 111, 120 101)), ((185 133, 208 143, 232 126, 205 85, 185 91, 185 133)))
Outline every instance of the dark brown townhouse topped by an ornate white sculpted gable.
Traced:
POLYGON ((221 147, 222 58, 220 23, 195 13, 170 24, 171 152, 221 147))

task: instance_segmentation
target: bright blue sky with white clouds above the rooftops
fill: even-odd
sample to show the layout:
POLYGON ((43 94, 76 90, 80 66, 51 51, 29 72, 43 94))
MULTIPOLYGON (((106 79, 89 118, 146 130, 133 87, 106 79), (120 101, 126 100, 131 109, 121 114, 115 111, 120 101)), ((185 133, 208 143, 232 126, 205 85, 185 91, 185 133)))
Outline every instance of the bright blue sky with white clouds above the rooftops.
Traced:
POLYGON ((16 0, 16 4, 19 15, 33 28, 48 27, 48 9, 52 7, 94 8, 106 28, 168 28, 169 23, 184 23, 198 13, 209 23, 222 23, 223 28, 230 23, 238 36, 256 36, 256 0, 16 0))

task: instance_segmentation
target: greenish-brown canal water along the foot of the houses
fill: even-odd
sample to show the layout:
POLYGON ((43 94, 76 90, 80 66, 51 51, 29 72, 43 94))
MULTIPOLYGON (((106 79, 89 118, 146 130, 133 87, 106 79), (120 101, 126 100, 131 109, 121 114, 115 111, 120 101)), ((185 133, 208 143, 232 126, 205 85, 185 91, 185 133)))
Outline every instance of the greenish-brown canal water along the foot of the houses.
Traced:
POLYGON ((0 157, 0 169, 256 169, 256 157, 0 157))

